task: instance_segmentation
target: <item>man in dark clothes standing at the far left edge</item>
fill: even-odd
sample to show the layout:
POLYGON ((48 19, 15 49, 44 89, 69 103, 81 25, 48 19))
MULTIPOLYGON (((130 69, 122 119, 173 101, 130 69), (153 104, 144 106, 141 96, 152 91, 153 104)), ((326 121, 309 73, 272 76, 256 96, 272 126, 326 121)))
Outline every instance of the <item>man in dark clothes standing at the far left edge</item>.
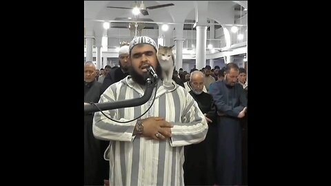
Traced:
MULTIPOLYGON (((97 70, 92 62, 84 65, 84 102, 98 103, 101 83, 95 76, 97 70)), ((84 116, 84 185, 103 185, 108 176, 108 162, 103 159, 103 152, 108 143, 94 138, 92 132, 93 114, 84 116)))

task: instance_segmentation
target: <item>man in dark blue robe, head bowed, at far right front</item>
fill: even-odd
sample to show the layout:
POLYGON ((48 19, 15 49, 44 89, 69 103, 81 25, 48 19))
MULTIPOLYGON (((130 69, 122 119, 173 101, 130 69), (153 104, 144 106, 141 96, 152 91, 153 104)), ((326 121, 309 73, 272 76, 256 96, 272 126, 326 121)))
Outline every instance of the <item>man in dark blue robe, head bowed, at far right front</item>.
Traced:
POLYGON ((213 83, 210 94, 217 107, 217 185, 242 185, 241 125, 247 98, 243 86, 237 83, 239 68, 228 63, 222 81, 213 83))

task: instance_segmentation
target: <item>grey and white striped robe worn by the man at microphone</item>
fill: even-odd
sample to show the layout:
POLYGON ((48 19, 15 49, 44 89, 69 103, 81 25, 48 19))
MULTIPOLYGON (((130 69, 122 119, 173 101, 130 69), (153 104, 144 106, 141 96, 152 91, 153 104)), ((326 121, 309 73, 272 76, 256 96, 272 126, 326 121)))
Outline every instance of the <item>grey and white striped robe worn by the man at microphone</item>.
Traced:
MULTIPOLYGON (((159 81, 156 99, 141 118, 161 116, 174 125, 172 137, 165 141, 132 136, 137 121, 116 123, 94 114, 93 133, 96 138, 109 140, 105 156, 110 161, 110 185, 184 185, 183 145, 205 139, 208 125, 192 96, 181 86, 163 87, 159 81)), ((155 89, 154 89, 155 90, 155 89)), ((130 76, 108 87, 99 103, 141 97, 144 90, 130 76)), ((138 107, 105 111, 111 118, 129 121, 143 114, 154 98, 138 107)))

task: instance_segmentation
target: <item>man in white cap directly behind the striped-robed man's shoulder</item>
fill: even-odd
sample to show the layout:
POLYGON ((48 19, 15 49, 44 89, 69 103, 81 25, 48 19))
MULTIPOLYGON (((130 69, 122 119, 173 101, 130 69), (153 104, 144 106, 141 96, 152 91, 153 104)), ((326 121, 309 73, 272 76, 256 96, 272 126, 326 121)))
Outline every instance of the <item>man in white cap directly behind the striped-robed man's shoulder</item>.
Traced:
POLYGON ((110 70, 110 72, 108 72, 101 86, 101 94, 105 92, 105 90, 110 85, 128 76, 129 74, 128 70, 130 68, 130 63, 128 63, 128 57, 129 57, 129 46, 128 45, 121 46, 121 48, 119 48, 119 68, 114 68, 110 70))

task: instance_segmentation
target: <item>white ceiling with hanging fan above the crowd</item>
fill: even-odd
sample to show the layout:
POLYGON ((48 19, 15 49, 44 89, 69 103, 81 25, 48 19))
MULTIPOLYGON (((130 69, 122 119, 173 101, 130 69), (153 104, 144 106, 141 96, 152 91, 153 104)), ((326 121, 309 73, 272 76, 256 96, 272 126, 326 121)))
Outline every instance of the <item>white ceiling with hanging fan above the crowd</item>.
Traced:
MULTIPOLYGON (((133 8, 134 2, 135 1, 84 1, 86 34, 102 32, 102 27, 99 26, 99 23, 103 21, 132 21, 128 19, 128 17, 134 18, 132 10, 107 8, 107 6, 133 8)), ((137 2, 139 4, 141 3, 141 1, 137 2)), ((137 19, 158 23, 194 22, 196 14, 195 7, 199 7, 198 3, 201 4, 201 2, 208 3, 208 12, 205 12, 205 14, 207 14, 208 19, 215 20, 219 23, 216 28, 221 27, 221 25, 233 24, 234 21, 240 17, 240 14, 242 16, 247 14, 247 11, 243 11, 244 8, 247 8, 247 1, 143 1, 146 7, 166 3, 174 3, 174 6, 153 10, 148 9, 149 15, 143 16, 139 14, 137 19), (241 10, 239 4, 243 6, 241 10)), ((114 25, 118 26, 120 24, 114 25)), ((190 25, 185 25, 185 28, 188 26, 190 25)))

